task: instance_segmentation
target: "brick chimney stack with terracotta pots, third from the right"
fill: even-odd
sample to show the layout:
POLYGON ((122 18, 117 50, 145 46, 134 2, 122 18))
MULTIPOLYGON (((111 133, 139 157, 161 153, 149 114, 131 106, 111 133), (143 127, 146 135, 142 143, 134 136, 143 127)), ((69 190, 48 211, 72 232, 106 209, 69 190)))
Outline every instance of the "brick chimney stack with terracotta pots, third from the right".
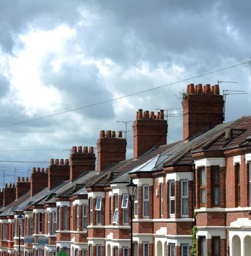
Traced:
POLYGON ((97 142, 98 173, 106 167, 119 161, 125 160, 126 139, 122 138, 122 132, 100 131, 97 142))

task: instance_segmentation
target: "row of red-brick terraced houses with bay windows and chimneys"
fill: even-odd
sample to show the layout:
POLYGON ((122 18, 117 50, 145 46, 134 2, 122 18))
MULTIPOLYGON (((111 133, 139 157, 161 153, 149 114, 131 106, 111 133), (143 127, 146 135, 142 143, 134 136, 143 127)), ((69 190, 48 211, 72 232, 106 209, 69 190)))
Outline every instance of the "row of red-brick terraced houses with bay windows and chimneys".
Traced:
POLYGON ((101 131, 96 155, 73 147, 70 159, 51 159, 30 179, 6 184, 0 256, 18 256, 19 213, 20 256, 129 256, 131 222, 134 256, 188 256, 193 242, 197 256, 251 255, 251 117, 223 123, 223 105, 218 85, 190 84, 183 140, 167 143, 163 110, 139 109, 132 159, 121 132, 101 131))

